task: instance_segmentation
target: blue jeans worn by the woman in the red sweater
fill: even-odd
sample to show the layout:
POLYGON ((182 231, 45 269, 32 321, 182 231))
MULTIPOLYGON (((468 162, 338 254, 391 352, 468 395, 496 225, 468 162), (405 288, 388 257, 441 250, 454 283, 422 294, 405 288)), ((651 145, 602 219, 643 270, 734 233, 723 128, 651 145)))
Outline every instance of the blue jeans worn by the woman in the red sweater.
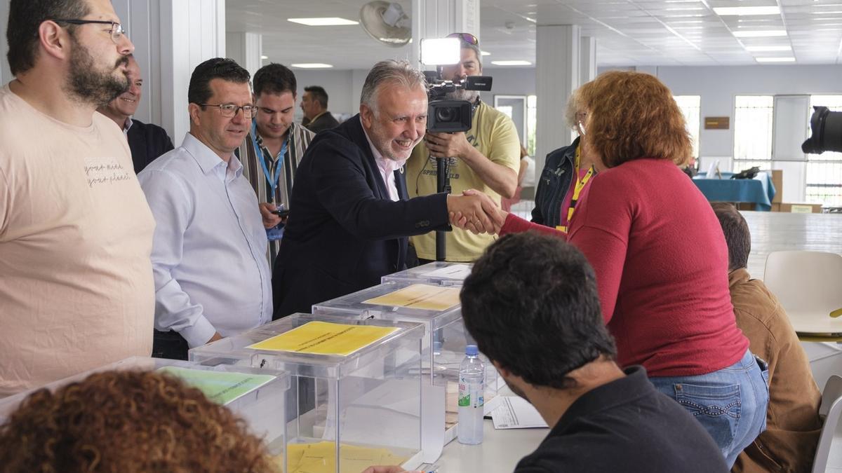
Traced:
POLYGON ((737 363, 707 375, 649 380, 711 434, 728 467, 766 429, 769 369, 748 350, 737 363))

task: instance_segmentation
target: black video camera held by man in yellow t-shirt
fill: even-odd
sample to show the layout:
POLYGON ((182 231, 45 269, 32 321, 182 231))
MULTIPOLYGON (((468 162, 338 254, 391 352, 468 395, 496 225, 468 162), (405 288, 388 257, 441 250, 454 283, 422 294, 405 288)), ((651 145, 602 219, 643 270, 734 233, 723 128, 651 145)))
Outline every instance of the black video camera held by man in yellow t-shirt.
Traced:
POLYGON ((467 100, 447 100, 447 93, 464 89, 488 92, 490 76, 468 76, 459 82, 445 81, 439 71, 424 71, 427 78, 427 131, 454 133, 471 130, 473 104, 467 100))

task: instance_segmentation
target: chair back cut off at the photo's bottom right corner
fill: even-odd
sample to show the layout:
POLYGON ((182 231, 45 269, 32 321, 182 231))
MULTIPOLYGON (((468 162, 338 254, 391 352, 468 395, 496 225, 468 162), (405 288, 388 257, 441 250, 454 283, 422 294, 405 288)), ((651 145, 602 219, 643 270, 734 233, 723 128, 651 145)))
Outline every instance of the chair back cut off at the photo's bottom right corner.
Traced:
POLYGON ((842 417, 842 377, 830 376, 828 384, 824 385, 822 407, 819 407, 818 414, 824 417, 824 426, 816 446, 813 473, 842 471, 842 432, 839 432, 842 428, 839 424, 839 417, 842 417))

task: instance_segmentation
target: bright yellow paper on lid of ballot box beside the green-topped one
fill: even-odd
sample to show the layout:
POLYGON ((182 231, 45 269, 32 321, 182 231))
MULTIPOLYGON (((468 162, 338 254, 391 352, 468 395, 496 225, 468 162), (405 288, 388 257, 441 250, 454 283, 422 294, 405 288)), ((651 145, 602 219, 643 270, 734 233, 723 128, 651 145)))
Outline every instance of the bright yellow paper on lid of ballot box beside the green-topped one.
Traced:
POLYGON ((248 348, 347 356, 396 330, 397 327, 307 322, 289 332, 249 345, 248 348))

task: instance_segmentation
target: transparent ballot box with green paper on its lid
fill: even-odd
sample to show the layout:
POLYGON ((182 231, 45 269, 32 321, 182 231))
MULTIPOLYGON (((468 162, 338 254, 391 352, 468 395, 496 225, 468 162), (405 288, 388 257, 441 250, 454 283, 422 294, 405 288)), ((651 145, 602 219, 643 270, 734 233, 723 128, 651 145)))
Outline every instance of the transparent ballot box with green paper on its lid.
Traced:
MULTIPOLYGON (((209 367, 174 359, 131 357, 58 380, 44 387, 56 391, 61 386, 82 381, 88 375, 111 370, 157 370, 184 380, 187 385, 204 392, 211 401, 224 405, 238 417, 242 417, 250 433, 258 438, 264 438, 269 454, 278 457, 285 455, 284 416, 290 379, 283 373, 270 373, 246 366, 209 367)), ((20 402, 34 391, 37 390, 22 392, 0 400, 0 424, 3 424, 6 418, 17 409, 20 402)))

